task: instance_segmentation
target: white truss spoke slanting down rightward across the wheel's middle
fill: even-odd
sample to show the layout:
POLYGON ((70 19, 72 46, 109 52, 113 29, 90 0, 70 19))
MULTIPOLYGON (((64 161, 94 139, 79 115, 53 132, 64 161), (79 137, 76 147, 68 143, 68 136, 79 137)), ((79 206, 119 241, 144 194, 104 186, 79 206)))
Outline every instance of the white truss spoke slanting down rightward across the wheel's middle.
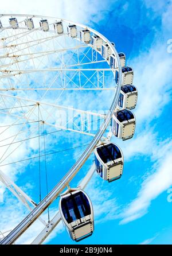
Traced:
MULTIPOLYGON (((22 102, 32 102, 35 103, 36 106, 40 106, 40 110, 42 109, 42 113, 44 112, 43 115, 43 120, 46 125, 56 127, 58 129, 64 129, 68 131, 73 131, 76 133, 81 133, 85 135, 90 135, 90 136, 95 136, 95 134, 91 133, 92 127, 90 125, 93 120, 102 120, 105 118, 105 115, 99 114, 99 113, 93 113, 91 111, 84 111, 84 110, 79 110, 73 107, 65 107, 65 106, 59 106, 56 104, 51 104, 51 103, 45 103, 45 102, 38 102, 36 100, 30 100, 26 98, 21 98, 18 96, 12 96, 12 95, 5 95, 5 94, 0 94, 1 98, 12 98, 15 99, 15 104, 18 106, 18 102, 22 104, 22 102), (18 100, 18 102, 17 102, 18 100), (54 117, 54 113, 61 113, 65 114, 67 116, 68 111, 70 111, 71 117, 68 117, 68 120, 61 119, 61 122, 63 124, 57 123, 57 118, 56 116, 54 117), (46 115, 45 115, 46 113, 46 115), (96 118, 96 119, 95 119, 96 118)), ((15 117, 15 114, 9 113, 15 117)), ((29 114, 28 116, 25 115, 25 118, 27 121, 36 121, 37 120, 37 115, 36 118, 34 119, 33 116, 36 115, 34 113, 34 109, 32 111, 32 119, 30 118, 29 114)), ((62 117, 63 118, 63 117, 62 117)), ((58 118, 59 119, 59 118, 58 118)), ((59 119, 60 120, 60 119, 59 119)))

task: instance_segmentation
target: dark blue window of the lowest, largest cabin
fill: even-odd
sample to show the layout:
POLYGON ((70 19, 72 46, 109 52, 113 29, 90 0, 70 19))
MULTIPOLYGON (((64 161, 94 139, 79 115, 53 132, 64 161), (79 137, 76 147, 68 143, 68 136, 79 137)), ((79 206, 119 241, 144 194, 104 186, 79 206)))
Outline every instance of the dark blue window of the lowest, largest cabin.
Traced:
POLYGON ((68 223, 91 214, 88 198, 83 192, 63 198, 61 200, 61 209, 68 223))

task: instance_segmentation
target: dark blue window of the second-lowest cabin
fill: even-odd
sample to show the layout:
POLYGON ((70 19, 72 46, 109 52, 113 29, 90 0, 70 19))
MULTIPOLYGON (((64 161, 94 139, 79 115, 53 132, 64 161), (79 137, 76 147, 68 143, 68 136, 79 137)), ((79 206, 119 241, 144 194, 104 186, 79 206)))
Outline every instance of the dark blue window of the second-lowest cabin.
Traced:
POLYGON ((97 148, 97 153, 105 164, 122 157, 118 146, 112 143, 97 148))

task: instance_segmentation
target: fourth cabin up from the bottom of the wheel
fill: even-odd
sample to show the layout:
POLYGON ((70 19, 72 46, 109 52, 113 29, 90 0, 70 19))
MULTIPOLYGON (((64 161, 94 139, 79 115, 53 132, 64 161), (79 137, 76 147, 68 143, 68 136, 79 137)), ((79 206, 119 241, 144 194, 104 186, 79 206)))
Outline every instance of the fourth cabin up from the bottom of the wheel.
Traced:
POLYGON ((118 106, 121 108, 133 109, 138 100, 138 90, 132 84, 126 84, 120 89, 118 106))

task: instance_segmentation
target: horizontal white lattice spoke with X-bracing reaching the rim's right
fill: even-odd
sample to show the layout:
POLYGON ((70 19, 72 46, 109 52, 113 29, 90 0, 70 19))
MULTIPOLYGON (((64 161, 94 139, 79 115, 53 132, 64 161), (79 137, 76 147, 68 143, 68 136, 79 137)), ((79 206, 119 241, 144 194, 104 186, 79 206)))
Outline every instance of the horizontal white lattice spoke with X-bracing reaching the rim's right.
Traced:
MULTIPOLYGON (((33 69, 34 71, 34 69, 33 69)), ((46 91, 44 96, 48 93, 48 91, 60 91, 60 90, 80 90, 80 91, 108 91, 116 90, 115 87, 110 87, 109 84, 105 83, 105 72, 111 71, 110 69, 51 69, 52 72, 56 72, 56 75, 52 78, 50 83, 44 81, 44 85, 38 85, 35 87, 33 84, 32 86, 27 84, 21 84, 19 76, 16 80, 16 83, 11 85, 10 87, 7 85, 6 82, 3 82, 3 87, 0 91, 46 91), (72 76, 67 75, 68 72, 71 72, 72 76), (82 76, 82 82, 81 82, 82 76), (78 80, 76 81, 75 78, 78 80), (83 84, 81 84, 83 83, 83 84), (54 86, 55 84, 55 86, 54 86), (19 85, 19 86, 18 86, 19 85), (12 87, 13 86, 13 87, 12 87)), ((22 72, 22 71, 21 71, 22 72)), ((28 71, 25 74, 32 72, 28 71)), ((49 72, 43 69, 40 69, 40 72, 49 72)), ((9 78, 9 77, 8 77, 9 78)), ((16 77, 17 78, 17 77, 16 77)), ((26 77, 27 78, 27 77, 26 77)))

